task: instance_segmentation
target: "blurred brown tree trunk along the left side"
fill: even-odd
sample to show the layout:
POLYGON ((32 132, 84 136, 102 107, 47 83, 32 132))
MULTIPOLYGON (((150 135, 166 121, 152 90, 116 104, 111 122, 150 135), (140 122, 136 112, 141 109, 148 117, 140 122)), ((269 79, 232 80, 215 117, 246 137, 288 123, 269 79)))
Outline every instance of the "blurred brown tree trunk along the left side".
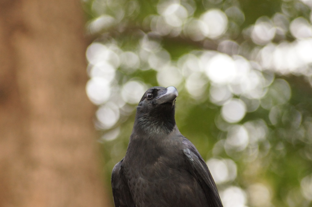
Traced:
POLYGON ((107 206, 80 1, 0 1, 0 206, 107 206))

